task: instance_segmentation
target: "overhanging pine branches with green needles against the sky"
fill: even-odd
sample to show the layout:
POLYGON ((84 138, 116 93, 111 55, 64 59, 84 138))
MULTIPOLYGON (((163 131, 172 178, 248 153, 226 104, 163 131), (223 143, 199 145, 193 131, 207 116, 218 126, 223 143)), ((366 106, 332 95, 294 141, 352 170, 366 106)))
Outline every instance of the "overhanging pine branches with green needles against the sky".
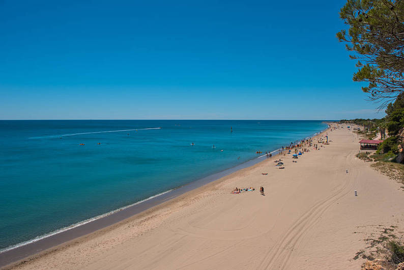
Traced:
POLYGON ((349 28, 337 38, 358 60, 353 80, 368 83, 371 100, 395 99, 404 92, 404 0, 348 0, 340 17, 349 28))

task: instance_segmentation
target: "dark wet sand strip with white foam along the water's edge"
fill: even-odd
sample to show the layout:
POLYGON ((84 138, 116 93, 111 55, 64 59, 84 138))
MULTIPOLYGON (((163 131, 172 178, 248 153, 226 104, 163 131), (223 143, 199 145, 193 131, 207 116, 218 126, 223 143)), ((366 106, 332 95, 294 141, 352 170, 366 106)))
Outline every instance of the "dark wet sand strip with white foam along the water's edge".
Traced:
MULTIPOLYGON (((315 132, 310 136, 304 138, 304 140, 312 139, 316 136, 321 135, 330 128, 330 123, 334 122, 328 121, 323 123, 327 124, 328 126, 323 130, 315 132)), ((276 149, 270 153, 276 153, 275 155, 278 155, 280 154, 280 151, 281 148, 276 149)), ((62 245, 67 245, 68 242, 71 242, 75 239, 85 237, 86 235, 95 233, 100 230, 108 229, 108 227, 111 227, 113 225, 118 225, 125 220, 134 218, 136 215, 141 214, 142 212, 152 210, 154 207, 160 206, 163 203, 168 203, 169 201, 179 198, 186 193, 195 191, 200 187, 204 187, 210 183, 216 182, 235 172, 251 168, 254 165, 262 163, 262 161, 267 159, 261 159, 265 156, 266 155, 264 154, 258 157, 254 157, 242 164, 200 178, 185 185, 172 188, 171 190, 156 194, 144 200, 111 210, 96 217, 86 219, 76 224, 72 224, 68 227, 49 232, 45 235, 41 235, 36 238, 3 249, 2 251, 0 251, 0 268, 11 267, 13 265, 19 264, 24 259, 37 257, 41 254, 46 254, 52 249, 55 249, 56 247, 62 245)))

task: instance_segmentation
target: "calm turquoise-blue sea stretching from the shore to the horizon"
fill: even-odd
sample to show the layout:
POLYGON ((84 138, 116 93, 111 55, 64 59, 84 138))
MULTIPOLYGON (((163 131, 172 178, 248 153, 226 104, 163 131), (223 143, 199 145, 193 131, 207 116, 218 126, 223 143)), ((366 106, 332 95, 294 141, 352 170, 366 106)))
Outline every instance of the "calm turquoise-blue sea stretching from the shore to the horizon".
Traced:
POLYGON ((0 250, 326 127, 283 120, 0 121, 0 250))

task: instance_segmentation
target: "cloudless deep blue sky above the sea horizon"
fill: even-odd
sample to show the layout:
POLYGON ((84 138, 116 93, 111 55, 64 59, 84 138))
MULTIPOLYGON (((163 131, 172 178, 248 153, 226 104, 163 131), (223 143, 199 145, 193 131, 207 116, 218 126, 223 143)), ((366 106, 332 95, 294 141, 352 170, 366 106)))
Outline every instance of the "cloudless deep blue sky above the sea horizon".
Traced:
POLYGON ((381 118, 345 2, 0 0, 0 119, 381 118))

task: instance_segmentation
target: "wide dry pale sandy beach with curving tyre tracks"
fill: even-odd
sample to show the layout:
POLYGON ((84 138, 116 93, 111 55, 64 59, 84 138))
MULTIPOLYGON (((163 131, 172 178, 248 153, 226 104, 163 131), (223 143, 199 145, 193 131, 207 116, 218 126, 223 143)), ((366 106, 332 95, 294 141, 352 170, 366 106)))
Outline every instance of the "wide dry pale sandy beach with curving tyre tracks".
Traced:
POLYGON ((404 193, 355 157, 351 130, 325 133, 297 163, 273 156, 11 268, 359 269, 367 236, 402 231, 404 193))

